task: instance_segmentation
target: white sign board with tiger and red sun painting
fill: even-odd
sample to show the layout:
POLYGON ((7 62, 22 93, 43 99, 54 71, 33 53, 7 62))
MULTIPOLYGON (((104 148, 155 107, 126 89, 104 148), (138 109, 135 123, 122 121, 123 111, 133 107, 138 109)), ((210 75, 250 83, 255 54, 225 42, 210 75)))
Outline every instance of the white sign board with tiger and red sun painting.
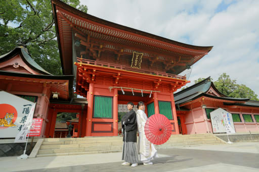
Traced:
POLYGON ((34 105, 31 101, 0 91, 0 138, 16 137, 30 120, 29 113, 34 105))

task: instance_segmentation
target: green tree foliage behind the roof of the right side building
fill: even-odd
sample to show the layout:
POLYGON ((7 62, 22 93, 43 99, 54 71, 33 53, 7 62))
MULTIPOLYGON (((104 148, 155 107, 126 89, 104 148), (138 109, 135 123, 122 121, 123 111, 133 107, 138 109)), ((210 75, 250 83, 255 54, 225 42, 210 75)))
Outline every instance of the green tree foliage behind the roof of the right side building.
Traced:
MULTIPOLYGON (((204 80, 205 78, 198 78, 195 80, 195 84, 204 80)), ((210 78, 210 81, 213 79, 210 78)), ((257 95, 253 90, 245 86, 244 84, 237 84, 236 80, 231 80, 230 76, 226 73, 220 75, 217 81, 213 82, 215 87, 224 95, 234 98, 250 98, 250 100, 257 100, 257 95)))

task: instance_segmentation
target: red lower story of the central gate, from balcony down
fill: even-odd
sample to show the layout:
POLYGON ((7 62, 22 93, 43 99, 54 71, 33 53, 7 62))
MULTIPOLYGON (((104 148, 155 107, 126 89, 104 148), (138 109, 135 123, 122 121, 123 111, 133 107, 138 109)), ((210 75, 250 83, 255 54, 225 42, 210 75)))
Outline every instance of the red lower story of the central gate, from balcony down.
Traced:
POLYGON ((78 61, 76 92, 88 99, 86 136, 117 136, 118 104, 128 101, 145 102, 149 116, 164 114, 172 124, 172 133, 179 134, 173 91, 187 83, 185 77, 155 76, 121 70, 119 65, 111 69, 78 61))

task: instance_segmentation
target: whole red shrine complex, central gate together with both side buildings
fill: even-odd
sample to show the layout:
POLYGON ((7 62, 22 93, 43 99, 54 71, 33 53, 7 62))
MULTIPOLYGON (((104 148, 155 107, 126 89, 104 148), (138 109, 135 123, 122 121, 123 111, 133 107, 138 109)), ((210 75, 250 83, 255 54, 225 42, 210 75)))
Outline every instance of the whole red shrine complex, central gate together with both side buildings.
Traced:
POLYGON ((172 134, 215 133, 210 112, 217 108, 232 113, 236 133, 259 132, 259 102, 227 97, 209 78, 175 93, 189 83, 179 74, 212 46, 177 42, 97 18, 59 0, 51 3, 64 75, 42 69, 24 46, 0 56, 0 91, 36 103, 33 118, 43 121, 40 138, 66 137, 70 124, 72 137, 117 136, 129 101, 134 110, 143 101, 148 117, 166 116, 172 134), (57 123, 61 112, 76 113, 76 119, 57 123))

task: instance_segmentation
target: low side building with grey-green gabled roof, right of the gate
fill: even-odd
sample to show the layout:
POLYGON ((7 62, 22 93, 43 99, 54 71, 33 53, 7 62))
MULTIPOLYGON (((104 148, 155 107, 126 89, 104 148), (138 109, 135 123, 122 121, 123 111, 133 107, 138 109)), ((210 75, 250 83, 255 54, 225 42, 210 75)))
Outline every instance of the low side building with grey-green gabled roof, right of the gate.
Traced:
POLYGON ((215 88, 210 77, 174 96, 177 109, 185 109, 182 112, 187 134, 224 133, 212 127, 215 119, 210 117, 210 112, 218 108, 231 113, 236 133, 259 133, 259 101, 228 97, 215 88))

